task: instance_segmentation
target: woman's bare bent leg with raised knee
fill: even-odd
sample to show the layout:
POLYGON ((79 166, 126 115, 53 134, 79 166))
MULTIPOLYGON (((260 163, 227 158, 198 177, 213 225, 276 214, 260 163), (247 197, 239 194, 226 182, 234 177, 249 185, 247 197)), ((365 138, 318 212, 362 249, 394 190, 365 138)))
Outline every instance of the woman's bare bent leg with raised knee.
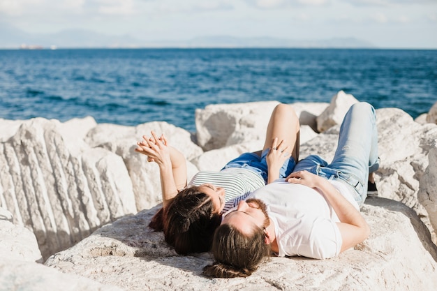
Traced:
POLYGON ((292 158, 297 163, 299 161, 299 126, 299 118, 290 105, 282 103, 277 105, 272 112, 269 125, 267 126, 267 134, 262 151, 269 149, 274 138, 277 137, 278 143, 283 142, 281 147, 288 146, 287 151, 291 153, 292 158))

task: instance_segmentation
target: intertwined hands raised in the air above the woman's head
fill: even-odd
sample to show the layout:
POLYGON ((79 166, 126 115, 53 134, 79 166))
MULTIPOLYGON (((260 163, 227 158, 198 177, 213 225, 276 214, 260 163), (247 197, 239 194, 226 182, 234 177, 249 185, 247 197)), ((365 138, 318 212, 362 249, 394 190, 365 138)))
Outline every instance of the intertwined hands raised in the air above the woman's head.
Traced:
POLYGON ((147 161, 155 162, 158 165, 163 165, 165 162, 170 162, 170 153, 168 151, 168 140, 162 134, 161 137, 157 137, 156 133, 152 130, 151 136, 142 136, 142 141, 137 142, 138 147, 136 152, 147 156, 147 161))

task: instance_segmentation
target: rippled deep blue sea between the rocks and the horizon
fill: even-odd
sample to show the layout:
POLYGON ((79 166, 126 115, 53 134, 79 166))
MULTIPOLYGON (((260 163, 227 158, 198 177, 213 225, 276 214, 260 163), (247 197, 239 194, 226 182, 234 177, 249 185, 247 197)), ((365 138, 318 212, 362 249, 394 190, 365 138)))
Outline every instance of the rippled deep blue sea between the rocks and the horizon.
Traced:
POLYGON ((437 101, 437 50, 0 50, 0 118, 195 131, 195 108, 278 100, 329 102, 343 90, 412 117, 437 101))

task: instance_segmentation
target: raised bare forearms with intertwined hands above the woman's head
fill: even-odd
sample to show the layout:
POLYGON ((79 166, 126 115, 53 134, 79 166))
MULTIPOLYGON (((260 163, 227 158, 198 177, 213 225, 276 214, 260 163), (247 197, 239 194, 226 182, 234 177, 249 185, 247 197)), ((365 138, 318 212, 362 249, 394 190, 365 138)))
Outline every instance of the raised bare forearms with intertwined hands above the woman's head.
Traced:
POLYGON ((186 186, 185 157, 180 151, 169 146, 163 135, 156 137, 154 131, 151 132, 150 138, 144 135, 142 142, 138 142, 137 145, 135 151, 145 154, 147 161, 158 164, 163 207, 165 207, 168 201, 186 186))

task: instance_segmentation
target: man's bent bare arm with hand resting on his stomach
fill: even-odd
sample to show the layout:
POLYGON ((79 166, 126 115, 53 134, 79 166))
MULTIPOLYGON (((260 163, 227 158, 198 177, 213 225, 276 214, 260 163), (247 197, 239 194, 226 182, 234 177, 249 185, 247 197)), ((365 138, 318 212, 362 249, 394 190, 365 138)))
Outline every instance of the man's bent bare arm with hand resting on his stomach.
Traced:
POLYGON ((331 204, 340 219, 340 223, 337 223, 337 226, 339 227, 341 238, 343 239, 341 252, 360 244, 364 239, 369 237, 370 227, 360 214, 360 211, 355 209, 327 179, 311 174, 310 172, 299 171, 290 174, 290 176, 287 177, 287 181, 311 188, 319 188, 320 191, 323 192, 326 200, 331 204))

